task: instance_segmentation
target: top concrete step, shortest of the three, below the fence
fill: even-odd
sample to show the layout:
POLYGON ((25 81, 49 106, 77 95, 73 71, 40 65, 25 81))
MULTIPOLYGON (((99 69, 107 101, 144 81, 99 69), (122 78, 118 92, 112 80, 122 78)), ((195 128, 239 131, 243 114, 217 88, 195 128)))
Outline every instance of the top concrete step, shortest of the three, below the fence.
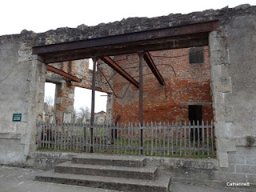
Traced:
POLYGON ((128 155, 82 154, 72 158, 72 162, 90 165, 142 167, 146 165, 146 158, 128 155))

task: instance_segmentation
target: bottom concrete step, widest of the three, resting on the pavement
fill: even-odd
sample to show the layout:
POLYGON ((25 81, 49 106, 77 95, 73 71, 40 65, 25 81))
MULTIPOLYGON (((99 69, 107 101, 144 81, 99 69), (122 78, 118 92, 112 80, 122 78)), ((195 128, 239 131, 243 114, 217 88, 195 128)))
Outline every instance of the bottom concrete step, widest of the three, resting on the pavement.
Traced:
POLYGON ((54 182, 75 186, 89 186, 106 190, 168 192, 170 175, 159 175, 154 180, 133 178, 113 178, 84 174, 59 174, 54 170, 46 171, 36 176, 36 181, 54 182))

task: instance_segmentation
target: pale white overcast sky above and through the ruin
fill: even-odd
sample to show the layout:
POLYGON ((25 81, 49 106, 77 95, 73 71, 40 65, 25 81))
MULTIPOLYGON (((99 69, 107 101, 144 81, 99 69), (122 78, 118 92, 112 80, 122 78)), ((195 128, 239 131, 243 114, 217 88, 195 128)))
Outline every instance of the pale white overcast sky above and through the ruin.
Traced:
MULTIPOLYGON (((221 9, 256 0, 2 0, 0 11, 0 35, 19 34, 22 30, 36 33, 55 30, 58 27, 77 27, 81 24, 95 26, 102 22, 120 21, 129 17, 156 17, 168 14, 188 14, 194 11, 221 9)), ((54 87, 46 86, 53 94, 54 87)), ((96 97, 96 109, 106 110, 106 97, 96 97)), ((90 107, 90 90, 76 88, 74 106, 90 107)))

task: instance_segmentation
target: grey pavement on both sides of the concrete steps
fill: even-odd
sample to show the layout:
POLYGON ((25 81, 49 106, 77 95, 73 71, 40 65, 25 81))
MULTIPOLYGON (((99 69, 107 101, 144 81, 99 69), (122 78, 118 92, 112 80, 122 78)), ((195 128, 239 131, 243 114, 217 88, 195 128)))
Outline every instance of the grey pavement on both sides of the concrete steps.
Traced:
MULTIPOLYGON (((22 169, 11 166, 0 166, 0 192, 114 192, 114 190, 93 189, 83 186, 68 186, 49 182, 35 182, 34 177, 43 170, 22 169)), ((249 192, 253 190, 228 189, 210 186, 193 186, 173 183, 172 192, 249 192)))

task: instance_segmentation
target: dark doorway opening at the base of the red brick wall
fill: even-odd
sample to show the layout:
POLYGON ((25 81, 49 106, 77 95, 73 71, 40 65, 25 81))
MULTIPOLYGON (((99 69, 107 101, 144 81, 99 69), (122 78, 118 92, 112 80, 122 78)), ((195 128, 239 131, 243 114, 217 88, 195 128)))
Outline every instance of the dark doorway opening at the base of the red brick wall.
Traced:
MULTIPOLYGON (((202 106, 189 106, 189 120, 191 125, 202 125, 202 106)), ((202 128, 192 128, 190 130, 190 140, 198 141, 198 136, 202 140, 202 128)))

